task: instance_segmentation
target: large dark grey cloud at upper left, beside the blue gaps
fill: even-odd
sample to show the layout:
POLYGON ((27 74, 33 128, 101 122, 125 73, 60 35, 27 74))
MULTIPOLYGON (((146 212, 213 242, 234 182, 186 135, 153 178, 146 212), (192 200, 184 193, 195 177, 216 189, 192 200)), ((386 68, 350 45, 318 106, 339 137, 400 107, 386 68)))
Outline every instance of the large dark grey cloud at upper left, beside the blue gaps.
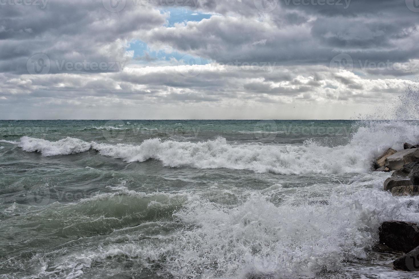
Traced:
POLYGON ((166 23, 158 10, 129 3, 119 13, 109 12, 99 0, 50 0, 43 9, 2 5, 0 72, 28 73, 28 59, 39 53, 47 55, 49 73, 121 70, 131 59, 129 41, 166 23))

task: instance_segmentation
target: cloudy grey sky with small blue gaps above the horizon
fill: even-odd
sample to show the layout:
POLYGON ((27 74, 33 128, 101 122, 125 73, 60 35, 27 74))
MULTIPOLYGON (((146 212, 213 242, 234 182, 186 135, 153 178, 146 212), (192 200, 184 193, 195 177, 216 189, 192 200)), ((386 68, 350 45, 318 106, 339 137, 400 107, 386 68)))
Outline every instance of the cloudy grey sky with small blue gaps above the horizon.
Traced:
POLYGON ((419 0, 0 0, 0 119, 357 118, 416 86, 418 26, 419 0))

